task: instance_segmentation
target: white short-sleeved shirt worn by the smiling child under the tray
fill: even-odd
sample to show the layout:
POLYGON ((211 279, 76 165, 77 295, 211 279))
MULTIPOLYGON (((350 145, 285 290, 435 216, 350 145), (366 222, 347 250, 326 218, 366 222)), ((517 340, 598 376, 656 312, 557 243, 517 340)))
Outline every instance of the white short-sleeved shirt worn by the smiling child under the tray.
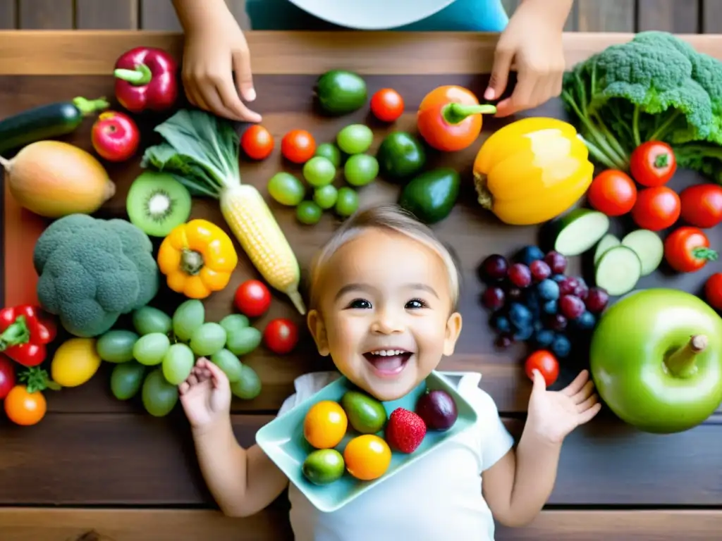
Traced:
MULTIPOLYGON (((341 509, 318 511, 293 483, 288 497, 296 541, 494 541, 494 519, 482 496, 481 473, 513 446, 481 374, 441 372, 477 411, 475 428, 457 434, 414 464, 341 509)), ((298 377, 287 413, 338 378, 337 372, 298 377)))

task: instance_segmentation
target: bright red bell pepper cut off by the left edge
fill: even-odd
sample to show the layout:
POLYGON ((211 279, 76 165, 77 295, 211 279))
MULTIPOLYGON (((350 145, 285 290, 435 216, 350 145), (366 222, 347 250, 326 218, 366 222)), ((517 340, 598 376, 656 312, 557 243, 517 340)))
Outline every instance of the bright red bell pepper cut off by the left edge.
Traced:
POLYGON ((38 366, 57 333, 55 324, 30 304, 0 310, 0 351, 22 366, 38 366))

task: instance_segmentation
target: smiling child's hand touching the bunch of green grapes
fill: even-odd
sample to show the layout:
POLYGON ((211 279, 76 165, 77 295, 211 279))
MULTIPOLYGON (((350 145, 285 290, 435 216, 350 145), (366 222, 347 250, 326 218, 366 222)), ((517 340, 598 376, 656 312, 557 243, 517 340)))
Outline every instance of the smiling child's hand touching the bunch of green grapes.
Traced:
POLYGON ((218 366, 201 357, 178 385, 181 404, 193 428, 207 428, 230 411, 230 383, 218 366))

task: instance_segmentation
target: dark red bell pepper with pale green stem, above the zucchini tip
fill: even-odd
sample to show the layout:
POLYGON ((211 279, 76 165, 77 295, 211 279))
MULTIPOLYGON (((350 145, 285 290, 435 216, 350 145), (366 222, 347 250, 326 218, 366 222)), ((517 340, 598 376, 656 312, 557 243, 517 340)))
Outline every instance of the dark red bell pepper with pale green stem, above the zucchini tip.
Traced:
POLYGON ((136 47, 116 61, 116 99, 131 113, 163 111, 178 97, 178 64, 165 50, 136 47))

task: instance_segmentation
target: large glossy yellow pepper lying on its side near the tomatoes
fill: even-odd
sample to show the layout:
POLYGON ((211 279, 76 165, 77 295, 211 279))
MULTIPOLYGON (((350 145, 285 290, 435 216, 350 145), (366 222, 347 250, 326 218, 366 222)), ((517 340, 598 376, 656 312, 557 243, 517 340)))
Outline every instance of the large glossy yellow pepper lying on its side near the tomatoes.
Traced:
POLYGON ((524 118, 493 133, 474 160, 479 204, 510 225, 541 224, 574 205, 594 166, 575 128, 556 118, 524 118))

